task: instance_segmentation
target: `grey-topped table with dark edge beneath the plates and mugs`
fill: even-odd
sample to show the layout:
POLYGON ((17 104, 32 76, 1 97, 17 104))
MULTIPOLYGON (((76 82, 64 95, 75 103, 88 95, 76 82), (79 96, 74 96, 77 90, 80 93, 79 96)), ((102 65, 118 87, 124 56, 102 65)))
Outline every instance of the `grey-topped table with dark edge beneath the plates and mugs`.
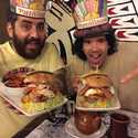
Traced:
MULTIPOLYGON (((62 107, 63 115, 66 116, 66 105, 62 107)), ((126 110, 117 110, 119 113, 126 114, 130 117, 130 125, 128 128, 128 134, 131 136, 129 138, 138 138, 138 113, 126 112, 126 110)), ((56 110, 52 110, 51 113, 43 114, 31 121, 23 130, 19 131, 12 138, 73 138, 68 136, 64 130, 64 123, 61 126, 55 126, 55 128, 51 127, 52 123, 51 119, 54 119, 56 110), (38 135, 38 136, 36 136, 38 135), (52 136, 53 135, 53 136, 52 136)), ((60 113, 60 115, 62 115, 60 113)), ((66 116, 66 120, 70 119, 70 115, 66 116)), ((103 138, 108 138, 108 131, 106 132, 103 138)))

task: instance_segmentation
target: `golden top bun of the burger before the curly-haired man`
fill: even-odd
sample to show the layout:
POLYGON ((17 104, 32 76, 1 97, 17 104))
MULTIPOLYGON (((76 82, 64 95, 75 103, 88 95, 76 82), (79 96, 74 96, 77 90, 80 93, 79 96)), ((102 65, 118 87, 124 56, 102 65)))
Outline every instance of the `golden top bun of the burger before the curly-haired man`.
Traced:
POLYGON ((89 87, 110 87, 113 85, 110 78, 106 74, 89 74, 83 76, 83 81, 89 87))

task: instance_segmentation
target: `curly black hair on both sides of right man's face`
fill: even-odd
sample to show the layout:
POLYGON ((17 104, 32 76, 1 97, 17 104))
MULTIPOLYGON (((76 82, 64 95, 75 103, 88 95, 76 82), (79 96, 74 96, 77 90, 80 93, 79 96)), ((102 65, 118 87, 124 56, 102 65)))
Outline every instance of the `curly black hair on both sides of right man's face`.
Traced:
MULTIPOLYGON (((109 31, 107 34, 104 34, 107 43, 109 45, 108 49, 108 55, 112 55, 113 53, 117 52, 117 40, 115 38, 114 30, 109 31)), ((83 52, 83 41, 85 38, 76 38, 74 45, 73 45, 73 54, 76 54, 79 59, 86 61, 86 55, 83 52)))

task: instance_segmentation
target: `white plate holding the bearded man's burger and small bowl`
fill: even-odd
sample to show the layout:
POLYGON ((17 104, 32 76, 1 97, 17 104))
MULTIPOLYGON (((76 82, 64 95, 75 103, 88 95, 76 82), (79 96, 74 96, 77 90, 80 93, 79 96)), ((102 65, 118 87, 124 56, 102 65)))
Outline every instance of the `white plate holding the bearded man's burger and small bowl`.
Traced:
POLYGON ((40 114, 43 114, 45 112, 50 112, 52 109, 55 109, 62 105, 64 105, 66 102, 67 102, 67 98, 64 97, 63 102, 59 105, 56 105, 56 107, 53 107, 52 109, 50 110, 40 110, 40 112, 35 112, 35 113, 28 113, 26 110, 24 110, 21 106, 21 97, 22 97, 22 94, 18 94, 18 95, 12 95, 12 94, 9 94, 6 89, 6 87, 3 87, 3 85, 1 85, 0 83, 0 96, 6 99, 10 105, 12 105, 15 109, 18 109, 19 112, 21 112, 22 114, 31 117, 31 116, 36 116, 36 115, 40 115, 40 114))

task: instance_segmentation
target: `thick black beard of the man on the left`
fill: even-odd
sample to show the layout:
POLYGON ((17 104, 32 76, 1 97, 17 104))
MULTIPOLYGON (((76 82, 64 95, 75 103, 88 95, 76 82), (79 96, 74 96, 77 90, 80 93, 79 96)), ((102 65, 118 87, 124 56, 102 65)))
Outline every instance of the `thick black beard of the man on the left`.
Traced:
POLYGON ((35 59, 41 54, 41 51, 44 46, 44 41, 41 42, 40 39, 24 39, 24 40, 19 40, 18 36, 14 34, 13 35, 13 46, 15 51, 18 52, 19 55, 21 55, 24 59, 35 59), (36 44, 36 50, 32 51, 31 53, 26 53, 26 44, 29 43, 35 43, 36 44))

